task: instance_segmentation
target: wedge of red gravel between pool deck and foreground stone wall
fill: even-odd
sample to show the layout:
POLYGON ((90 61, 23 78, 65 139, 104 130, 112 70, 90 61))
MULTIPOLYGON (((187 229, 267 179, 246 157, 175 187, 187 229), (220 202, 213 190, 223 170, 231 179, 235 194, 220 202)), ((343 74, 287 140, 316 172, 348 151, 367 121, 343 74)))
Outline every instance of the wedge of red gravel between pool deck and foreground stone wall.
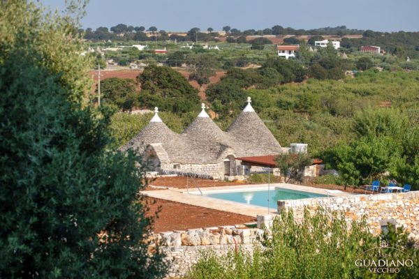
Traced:
POLYGON ((146 197, 149 205, 149 216, 159 210, 153 225, 154 232, 167 232, 175 229, 196 229, 221 225, 237 225, 256 221, 256 218, 236 213, 207 209, 201 206, 170 202, 166 199, 146 197), (154 203, 154 201, 156 201, 154 203), (154 204, 153 204, 154 203, 154 204))

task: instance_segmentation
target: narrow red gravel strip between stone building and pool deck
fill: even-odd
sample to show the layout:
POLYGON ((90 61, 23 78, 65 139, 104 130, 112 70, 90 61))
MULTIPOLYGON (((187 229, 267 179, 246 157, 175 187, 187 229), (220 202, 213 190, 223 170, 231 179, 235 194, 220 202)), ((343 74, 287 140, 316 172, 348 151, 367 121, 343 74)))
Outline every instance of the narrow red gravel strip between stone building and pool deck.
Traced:
MULTIPOLYGON (((168 177, 158 177, 152 181, 149 181, 149 185, 152 186, 166 186, 166 187, 175 187, 179 189, 187 188, 188 179, 185 176, 168 176, 168 177)), ((219 186, 234 186, 245 184, 244 181, 215 181, 212 179, 189 179, 189 188, 198 187, 219 187, 219 186), (195 183, 193 182, 195 181, 195 183)), ((148 187, 147 190, 154 190, 153 188, 148 187)))

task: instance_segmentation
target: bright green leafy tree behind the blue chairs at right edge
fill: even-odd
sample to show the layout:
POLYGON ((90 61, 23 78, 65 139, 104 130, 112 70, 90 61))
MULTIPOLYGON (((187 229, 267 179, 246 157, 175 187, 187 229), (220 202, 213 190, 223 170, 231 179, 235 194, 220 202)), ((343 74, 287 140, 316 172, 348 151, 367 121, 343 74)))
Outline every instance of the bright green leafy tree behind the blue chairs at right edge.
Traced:
POLYGON ((326 156, 327 162, 337 168, 345 186, 392 178, 416 188, 419 185, 415 153, 418 132, 409 130, 409 125, 409 119, 398 110, 358 112, 353 119, 357 138, 348 145, 342 142, 335 146, 326 156), (408 170, 410 173, 406 175, 408 170))

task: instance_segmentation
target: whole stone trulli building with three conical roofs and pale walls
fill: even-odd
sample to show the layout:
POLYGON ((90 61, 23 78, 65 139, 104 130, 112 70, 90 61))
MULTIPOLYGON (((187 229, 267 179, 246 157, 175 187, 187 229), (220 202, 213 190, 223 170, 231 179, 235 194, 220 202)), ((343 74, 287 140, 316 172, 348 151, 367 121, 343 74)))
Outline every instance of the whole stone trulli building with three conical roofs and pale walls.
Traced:
POLYGON ((156 107, 149 124, 120 150, 135 150, 148 161, 151 171, 160 173, 215 179, 241 175, 245 166, 236 158, 282 151, 250 103, 247 98, 247 106, 225 132, 208 116, 203 104, 198 117, 182 134, 174 133, 161 121, 156 107))

